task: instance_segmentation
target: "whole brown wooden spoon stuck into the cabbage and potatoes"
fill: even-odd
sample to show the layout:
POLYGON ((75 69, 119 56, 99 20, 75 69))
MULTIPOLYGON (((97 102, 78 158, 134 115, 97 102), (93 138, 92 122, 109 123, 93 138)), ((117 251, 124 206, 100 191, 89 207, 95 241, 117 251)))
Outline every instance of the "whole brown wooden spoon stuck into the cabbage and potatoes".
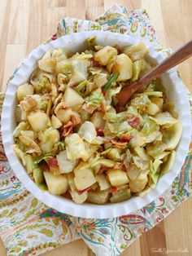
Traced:
POLYGON ((120 106, 124 106, 133 95, 133 93, 136 92, 136 90, 148 84, 156 77, 159 77, 161 74, 168 71, 168 69, 190 58, 191 55, 192 40, 190 40, 190 42, 187 42, 184 46, 181 46, 181 48, 179 48, 177 51, 173 52, 172 55, 168 56, 168 58, 166 58, 162 63, 157 65, 144 77, 141 77, 136 82, 133 82, 133 84, 131 84, 130 86, 125 86, 124 88, 122 88, 120 92, 116 95, 118 99, 118 104, 120 106))

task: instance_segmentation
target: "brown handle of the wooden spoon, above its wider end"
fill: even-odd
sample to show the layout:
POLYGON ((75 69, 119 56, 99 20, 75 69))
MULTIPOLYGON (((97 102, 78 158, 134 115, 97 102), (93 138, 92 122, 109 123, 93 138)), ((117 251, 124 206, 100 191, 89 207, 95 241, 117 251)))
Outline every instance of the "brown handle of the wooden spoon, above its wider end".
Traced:
POLYGON ((151 72, 139 79, 139 83, 146 85, 148 82, 151 82, 156 77, 159 77, 161 74, 168 71, 168 69, 175 67, 177 64, 188 59, 190 55, 192 55, 192 40, 187 42, 184 46, 181 46, 177 51, 172 53, 172 55, 169 55, 162 63, 153 68, 151 72))

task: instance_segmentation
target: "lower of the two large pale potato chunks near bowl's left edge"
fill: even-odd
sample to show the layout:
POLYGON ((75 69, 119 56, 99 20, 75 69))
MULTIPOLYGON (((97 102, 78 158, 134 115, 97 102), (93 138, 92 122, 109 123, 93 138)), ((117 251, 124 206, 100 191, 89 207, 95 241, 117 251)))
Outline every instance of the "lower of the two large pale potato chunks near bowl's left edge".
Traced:
POLYGON ((32 126, 32 129, 36 132, 46 130, 48 121, 49 120, 46 113, 43 112, 31 113, 28 115, 28 122, 30 126, 32 126))

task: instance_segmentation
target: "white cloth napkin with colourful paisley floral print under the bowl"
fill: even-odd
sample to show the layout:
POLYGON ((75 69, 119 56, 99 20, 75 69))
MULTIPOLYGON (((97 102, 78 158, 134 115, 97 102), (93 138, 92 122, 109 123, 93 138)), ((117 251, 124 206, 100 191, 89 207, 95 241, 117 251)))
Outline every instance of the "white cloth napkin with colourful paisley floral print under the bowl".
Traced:
MULTIPOLYGON (((59 22, 57 32, 47 42, 69 33, 89 30, 126 33, 151 43, 156 51, 163 51, 146 11, 128 11, 117 4, 94 21, 64 18, 59 22)), ((0 95, 0 108, 2 101, 3 95, 0 95)), ((151 204, 119 218, 76 218, 61 214, 37 201, 11 170, 3 151, 1 135, 0 147, 0 236, 8 256, 42 254, 79 238, 83 238, 98 256, 119 255, 192 193, 190 146, 181 173, 172 186, 151 204)))

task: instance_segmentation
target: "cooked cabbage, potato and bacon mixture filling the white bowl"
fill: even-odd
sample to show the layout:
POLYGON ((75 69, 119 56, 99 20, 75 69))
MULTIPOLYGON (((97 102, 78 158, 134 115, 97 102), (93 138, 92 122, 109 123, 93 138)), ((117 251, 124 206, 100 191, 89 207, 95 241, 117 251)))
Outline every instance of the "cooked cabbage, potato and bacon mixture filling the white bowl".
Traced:
MULTIPOLYGON (((171 169, 181 123, 159 79, 120 108, 116 94, 149 72, 146 46, 47 51, 18 87, 15 155, 43 190, 105 204, 143 196, 171 169)), ((166 85, 165 85, 166 86, 166 85)))

